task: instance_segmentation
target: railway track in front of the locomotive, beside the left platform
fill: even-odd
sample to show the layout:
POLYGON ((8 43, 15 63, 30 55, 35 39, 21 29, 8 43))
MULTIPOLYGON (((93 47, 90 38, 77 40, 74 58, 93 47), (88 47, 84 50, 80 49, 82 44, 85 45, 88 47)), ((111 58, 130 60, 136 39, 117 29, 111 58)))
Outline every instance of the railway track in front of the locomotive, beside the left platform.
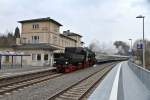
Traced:
POLYGON ((24 87, 27 87, 29 85, 33 85, 33 84, 36 84, 36 83, 40 83, 40 82, 43 82, 43 81, 47 81, 49 79, 52 79, 52 78, 55 78, 55 77, 59 77, 61 76, 62 74, 60 73, 50 73, 50 74, 44 74, 44 75, 40 75, 38 77, 33 77, 33 78, 29 78, 29 79, 25 79, 25 80, 18 80, 18 81, 15 81, 15 82, 11 82, 9 84, 6 84, 6 85, 1 85, 0 86, 0 95, 4 95, 6 93, 10 93, 12 91, 16 91, 18 89, 21 89, 21 88, 24 88, 24 87))

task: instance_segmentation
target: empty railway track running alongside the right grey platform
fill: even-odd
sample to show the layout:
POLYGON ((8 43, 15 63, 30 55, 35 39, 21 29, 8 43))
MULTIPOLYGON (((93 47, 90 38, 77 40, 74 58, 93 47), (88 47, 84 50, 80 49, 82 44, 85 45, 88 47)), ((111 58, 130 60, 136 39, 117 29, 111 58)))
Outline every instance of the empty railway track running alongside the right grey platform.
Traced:
POLYGON ((71 85, 65 90, 56 93, 51 96, 49 100, 82 100, 82 98, 112 69, 113 65, 111 64, 108 67, 104 67, 100 71, 71 85))

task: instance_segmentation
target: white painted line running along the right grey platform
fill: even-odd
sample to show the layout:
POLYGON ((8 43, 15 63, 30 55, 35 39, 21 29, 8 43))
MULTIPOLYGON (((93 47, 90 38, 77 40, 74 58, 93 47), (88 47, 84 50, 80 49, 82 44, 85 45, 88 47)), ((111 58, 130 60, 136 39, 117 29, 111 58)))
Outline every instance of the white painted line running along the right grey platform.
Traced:
POLYGON ((118 94, 118 84, 119 84, 119 76, 120 76, 120 70, 121 70, 122 63, 119 64, 117 74, 115 77, 115 80, 113 82, 112 90, 110 93, 109 100, 117 100, 117 94, 118 94))

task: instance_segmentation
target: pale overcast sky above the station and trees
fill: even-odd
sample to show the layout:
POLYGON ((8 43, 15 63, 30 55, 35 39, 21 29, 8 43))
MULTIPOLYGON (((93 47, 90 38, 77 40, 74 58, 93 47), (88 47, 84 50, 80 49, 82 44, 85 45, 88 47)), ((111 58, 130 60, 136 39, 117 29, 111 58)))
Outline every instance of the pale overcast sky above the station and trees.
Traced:
POLYGON ((128 42, 142 37, 145 15, 145 37, 150 39, 150 0, 0 0, 0 33, 14 31, 19 20, 51 17, 63 30, 80 33, 89 44, 98 40, 110 43, 128 42))

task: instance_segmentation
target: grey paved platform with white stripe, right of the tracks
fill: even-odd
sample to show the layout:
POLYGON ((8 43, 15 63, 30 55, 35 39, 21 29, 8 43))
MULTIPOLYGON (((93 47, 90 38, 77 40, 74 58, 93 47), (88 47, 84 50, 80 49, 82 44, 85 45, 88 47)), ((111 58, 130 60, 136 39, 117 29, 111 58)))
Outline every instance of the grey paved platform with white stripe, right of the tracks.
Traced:
POLYGON ((150 100, 150 72, 131 62, 114 67, 88 100, 150 100))

